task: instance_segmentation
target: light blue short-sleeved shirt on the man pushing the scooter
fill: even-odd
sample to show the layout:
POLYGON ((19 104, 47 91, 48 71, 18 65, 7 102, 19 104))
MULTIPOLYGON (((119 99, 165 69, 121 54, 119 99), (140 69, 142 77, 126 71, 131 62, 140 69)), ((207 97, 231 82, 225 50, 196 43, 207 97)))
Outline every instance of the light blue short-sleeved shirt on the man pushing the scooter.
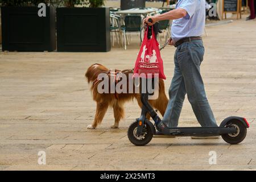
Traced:
POLYGON ((205 0, 179 0, 176 9, 184 9, 187 15, 172 21, 171 37, 174 42, 190 36, 201 36, 205 26, 205 0))

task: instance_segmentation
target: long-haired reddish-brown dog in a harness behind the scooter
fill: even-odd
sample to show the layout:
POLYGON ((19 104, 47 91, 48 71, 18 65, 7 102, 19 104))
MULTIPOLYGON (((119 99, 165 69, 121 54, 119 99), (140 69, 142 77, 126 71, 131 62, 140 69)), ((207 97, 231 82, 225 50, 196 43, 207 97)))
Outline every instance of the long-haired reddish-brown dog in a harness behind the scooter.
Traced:
MULTIPOLYGON (((128 75, 129 73, 133 73, 133 70, 132 69, 126 69, 123 71, 115 70, 115 73, 119 73, 119 72, 122 72, 125 75, 128 75)), ((87 128, 95 129, 98 126, 98 124, 102 122, 102 119, 104 118, 104 115, 108 110, 108 107, 111 106, 113 107, 114 118, 115 118, 115 122, 112 128, 116 129, 119 126, 120 119, 124 117, 125 111, 124 111, 123 105, 125 104, 125 102, 133 100, 133 98, 135 98, 138 102, 138 105, 142 107, 141 94, 135 93, 135 92, 120 93, 120 94, 98 93, 97 86, 100 83, 100 81, 97 80, 97 77, 100 73, 106 73, 110 76, 109 69, 104 67, 104 65, 101 65, 101 64, 91 65, 85 73, 85 77, 87 78, 88 83, 92 84, 90 87, 90 90, 92 91, 92 94, 93 94, 93 100, 97 102, 94 121, 92 125, 89 125, 87 128)), ((128 81, 127 81, 127 85, 129 85, 128 81)), ((164 81, 162 79, 159 79, 158 98, 156 100, 149 100, 149 102, 152 105, 152 107, 154 107, 155 109, 158 109, 160 113, 164 115, 164 112, 166 111, 166 107, 168 104, 168 98, 166 97, 166 93, 164 92, 164 81)), ((148 115, 147 118, 150 118, 150 116, 148 115)))

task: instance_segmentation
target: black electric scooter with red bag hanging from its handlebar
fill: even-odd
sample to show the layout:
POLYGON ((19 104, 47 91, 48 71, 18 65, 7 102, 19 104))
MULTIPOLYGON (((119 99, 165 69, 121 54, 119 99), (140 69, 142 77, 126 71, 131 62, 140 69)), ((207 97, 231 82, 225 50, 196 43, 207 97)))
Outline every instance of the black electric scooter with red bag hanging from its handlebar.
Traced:
MULTIPOLYGON (((158 31, 154 31, 154 32, 158 32, 158 31)), ((151 36, 151 31, 148 31, 147 38, 149 39, 150 36, 151 36)), ((167 43, 165 44, 165 46, 166 45, 167 43)), ((141 79, 151 79, 151 81, 147 82, 148 81, 147 80, 146 82, 147 84, 152 84, 151 88, 154 88, 154 78, 141 78, 141 79)), ((147 86, 147 88, 149 87, 147 86)), ((151 93, 150 90, 147 90, 146 93, 141 93, 141 102, 143 104, 141 117, 137 118, 136 121, 130 125, 127 132, 130 142, 133 143, 135 146, 144 146, 148 144, 151 141, 153 135, 156 135, 156 127, 159 127, 158 124, 161 122, 161 119, 158 116, 157 110, 154 110, 150 105, 150 103, 148 102, 148 97, 154 94, 154 93, 151 93, 151 94, 150 93, 151 93), (153 125, 153 123, 146 118, 147 114, 150 114, 150 117, 154 120, 155 125, 153 125)), ((247 122, 246 118, 232 116, 224 119, 221 122, 219 127, 168 128, 165 126, 164 130, 162 130, 161 132, 164 135, 171 135, 175 137, 188 137, 188 136, 209 137, 209 136, 221 135, 222 139, 224 139, 225 142, 230 144, 238 144, 242 142, 243 139, 245 139, 247 128, 249 128, 249 123, 247 122)))

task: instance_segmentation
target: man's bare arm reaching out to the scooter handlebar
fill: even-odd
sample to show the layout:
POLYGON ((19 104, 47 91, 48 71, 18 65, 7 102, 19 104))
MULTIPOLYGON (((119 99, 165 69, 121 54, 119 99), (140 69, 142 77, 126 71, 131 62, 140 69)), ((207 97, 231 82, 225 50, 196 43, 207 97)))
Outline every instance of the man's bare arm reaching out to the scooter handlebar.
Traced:
POLYGON ((155 24, 155 22, 159 22, 160 20, 179 19, 179 18, 183 18, 186 15, 187 15, 187 11, 180 8, 180 9, 168 11, 167 13, 163 13, 160 15, 147 16, 144 19, 144 23, 148 23, 148 25, 151 26, 152 24, 155 24), (149 18, 151 18, 153 20, 152 23, 148 22, 149 18))

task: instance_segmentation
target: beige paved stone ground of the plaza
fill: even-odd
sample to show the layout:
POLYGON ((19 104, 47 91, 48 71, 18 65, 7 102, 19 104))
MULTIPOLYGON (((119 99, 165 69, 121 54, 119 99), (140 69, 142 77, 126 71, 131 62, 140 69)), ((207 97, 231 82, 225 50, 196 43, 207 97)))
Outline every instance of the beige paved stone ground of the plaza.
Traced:
MULTIPOLYGON (((246 117, 246 139, 229 145, 220 139, 153 138, 144 147, 127 139, 127 127, 140 114, 134 102, 126 105, 120 129, 109 110, 100 127, 88 130, 96 104, 84 79, 86 68, 132 68, 138 52, 134 38, 127 51, 108 53, 0 53, 0 169, 256 169, 256 21, 207 27, 205 88, 218 123, 230 115, 246 117), (47 165, 38 164, 46 151, 47 165), (217 164, 208 163, 216 151, 217 164)), ((166 92, 174 70, 175 48, 162 51, 166 92)), ((198 126, 186 100, 180 126, 198 126)))

